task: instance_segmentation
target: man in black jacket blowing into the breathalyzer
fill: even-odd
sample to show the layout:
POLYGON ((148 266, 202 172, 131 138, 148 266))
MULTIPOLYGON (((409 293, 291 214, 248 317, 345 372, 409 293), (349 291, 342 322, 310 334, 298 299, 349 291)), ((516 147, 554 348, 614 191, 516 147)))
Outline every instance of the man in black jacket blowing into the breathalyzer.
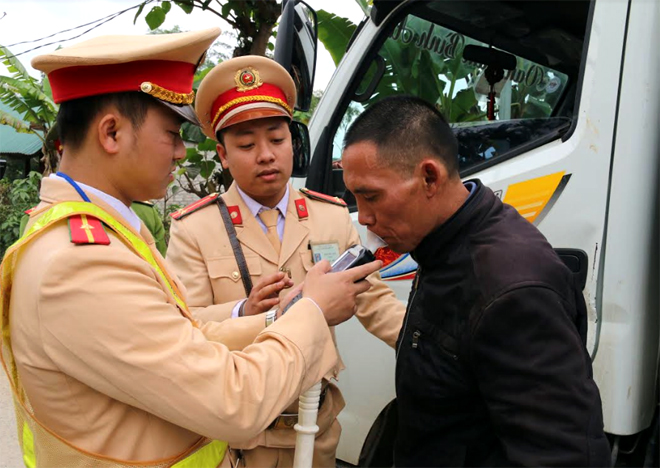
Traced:
POLYGON ((349 129, 359 221, 419 264, 397 343, 396 466, 605 466, 586 307, 543 235, 461 182, 436 109, 384 99, 349 129))

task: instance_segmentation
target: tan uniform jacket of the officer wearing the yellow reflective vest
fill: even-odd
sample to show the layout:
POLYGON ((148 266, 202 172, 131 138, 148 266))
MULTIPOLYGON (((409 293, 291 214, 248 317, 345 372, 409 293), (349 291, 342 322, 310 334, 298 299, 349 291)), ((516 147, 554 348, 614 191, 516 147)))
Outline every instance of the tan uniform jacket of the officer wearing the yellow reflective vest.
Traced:
MULTIPOLYGON (((65 181, 42 184, 34 218, 53 202, 80 201, 65 181)), ((247 440, 336 366, 310 301, 230 352, 222 340, 263 328, 263 316, 194 327, 155 270, 107 232, 110 245, 75 245, 61 222, 23 249, 15 270, 19 375, 37 418, 61 437, 136 461, 174 456, 200 435, 247 440)), ((159 255, 144 226, 140 234, 159 255)))

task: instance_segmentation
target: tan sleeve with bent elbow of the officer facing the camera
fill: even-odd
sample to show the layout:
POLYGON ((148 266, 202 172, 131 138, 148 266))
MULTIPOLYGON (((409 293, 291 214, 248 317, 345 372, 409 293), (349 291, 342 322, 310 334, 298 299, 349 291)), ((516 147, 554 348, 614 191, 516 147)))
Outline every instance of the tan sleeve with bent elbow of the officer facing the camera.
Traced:
POLYGON ((172 221, 167 260, 188 291, 188 307, 197 320, 221 322, 231 318, 238 301, 214 304, 213 287, 197 240, 185 227, 185 222, 172 221))

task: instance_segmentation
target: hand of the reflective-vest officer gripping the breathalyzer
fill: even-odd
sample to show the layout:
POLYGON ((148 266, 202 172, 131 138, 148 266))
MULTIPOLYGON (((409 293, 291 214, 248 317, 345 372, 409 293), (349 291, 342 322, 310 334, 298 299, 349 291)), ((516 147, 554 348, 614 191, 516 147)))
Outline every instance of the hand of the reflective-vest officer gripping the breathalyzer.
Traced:
POLYGON ((323 260, 307 273, 303 297, 319 305, 328 325, 339 325, 355 314, 355 298, 358 294, 371 288, 371 284, 364 278, 378 271, 381 266, 383 262, 377 260, 346 271, 326 274, 330 271, 330 263, 323 260))

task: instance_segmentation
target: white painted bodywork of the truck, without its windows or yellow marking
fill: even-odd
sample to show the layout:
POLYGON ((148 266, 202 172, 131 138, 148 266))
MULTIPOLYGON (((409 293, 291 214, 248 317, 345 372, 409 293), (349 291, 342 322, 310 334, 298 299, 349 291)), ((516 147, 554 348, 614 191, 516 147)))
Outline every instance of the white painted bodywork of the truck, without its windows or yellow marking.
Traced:
MULTIPOLYGON (((356 70, 394 14, 380 26, 367 21, 339 64, 310 122, 312 154, 357 79, 356 70)), ((589 26, 570 137, 467 178, 481 179, 509 202, 507 193, 516 184, 531 181, 533 186, 534 180, 549 175, 570 176, 534 223, 553 247, 588 255, 587 347, 595 353, 605 429, 628 435, 647 428, 657 406, 660 2, 597 0, 589 26)), ((305 180, 295 185, 304 186, 305 180)), ((357 213, 352 217, 364 239, 357 213)), ((407 302, 410 281, 388 284, 407 302)), ((394 350, 356 319, 336 332, 347 365, 339 376, 347 404, 339 416, 343 432, 337 456, 356 464, 371 424, 394 397, 394 350)))

